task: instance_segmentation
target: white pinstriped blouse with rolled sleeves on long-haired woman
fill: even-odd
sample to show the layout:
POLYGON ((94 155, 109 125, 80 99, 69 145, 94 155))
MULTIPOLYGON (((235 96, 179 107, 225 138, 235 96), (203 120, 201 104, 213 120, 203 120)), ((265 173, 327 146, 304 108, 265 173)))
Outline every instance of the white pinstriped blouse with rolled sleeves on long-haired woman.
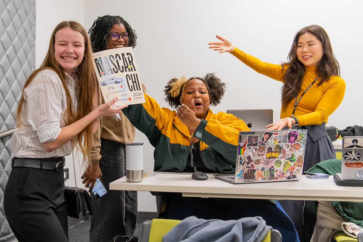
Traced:
MULTIPOLYGON (((66 74, 66 83, 77 110, 76 83, 77 75, 66 74)), ((53 152, 47 152, 41 143, 55 140, 62 127, 66 126, 64 112, 67 99, 61 79, 52 70, 42 70, 24 89, 25 115, 24 126, 15 132, 11 139, 11 149, 15 157, 49 158, 69 155, 70 142, 53 152)), ((66 118, 67 119, 67 118, 66 118)))

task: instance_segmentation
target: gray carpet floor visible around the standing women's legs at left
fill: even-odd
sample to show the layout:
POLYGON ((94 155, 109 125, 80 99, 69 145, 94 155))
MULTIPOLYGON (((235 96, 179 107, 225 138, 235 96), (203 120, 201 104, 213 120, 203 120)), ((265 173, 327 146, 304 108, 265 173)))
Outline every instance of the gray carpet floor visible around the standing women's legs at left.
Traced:
MULTIPOLYGON (((139 237, 141 223, 136 224, 135 236, 139 237)), ((81 221, 68 228, 69 242, 89 242, 90 221, 81 221)))

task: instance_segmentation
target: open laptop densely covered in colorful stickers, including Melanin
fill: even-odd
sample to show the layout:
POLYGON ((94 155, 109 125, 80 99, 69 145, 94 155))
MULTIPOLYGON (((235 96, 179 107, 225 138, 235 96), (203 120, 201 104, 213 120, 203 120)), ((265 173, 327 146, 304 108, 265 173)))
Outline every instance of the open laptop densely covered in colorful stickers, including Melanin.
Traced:
POLYGON ((213 174, 234 184, 302 177, 307 130, 240 131, 235 174, 213 174))

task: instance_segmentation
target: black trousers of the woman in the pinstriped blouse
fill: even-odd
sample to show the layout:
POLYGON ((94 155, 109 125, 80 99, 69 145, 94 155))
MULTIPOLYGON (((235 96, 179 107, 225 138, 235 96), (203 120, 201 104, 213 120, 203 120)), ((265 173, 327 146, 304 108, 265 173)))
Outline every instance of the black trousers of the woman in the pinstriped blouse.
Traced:
POLYGON ((4 193, 7 220, 19 242, 68 242, 64 171, 14 167, 4 193))

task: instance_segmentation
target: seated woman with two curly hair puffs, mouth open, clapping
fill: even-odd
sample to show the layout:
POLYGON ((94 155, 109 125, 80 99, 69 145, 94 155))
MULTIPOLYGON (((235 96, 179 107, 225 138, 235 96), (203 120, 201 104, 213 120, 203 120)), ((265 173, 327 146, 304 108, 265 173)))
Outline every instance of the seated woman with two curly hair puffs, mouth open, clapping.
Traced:
MULTIPOLYGON (((214 74, 204 78, 173 78, 165 87, 166 101, 176 110, 161 108, 148 95, 145 103, 122 111, 149 139, 154 151, 154 171, 234 173, 238 134, 248 131, 245 122, 232 114, 214 114, 210 106, 220 103, 225 92, 214 74)), ((183 220, 189 216, 204 219, 238 220, 263 216, 268 225, 282 233, 285 241, 296 241, 290 218, 274 201, 182 197, 162 193, 160 217, 183 220)))

